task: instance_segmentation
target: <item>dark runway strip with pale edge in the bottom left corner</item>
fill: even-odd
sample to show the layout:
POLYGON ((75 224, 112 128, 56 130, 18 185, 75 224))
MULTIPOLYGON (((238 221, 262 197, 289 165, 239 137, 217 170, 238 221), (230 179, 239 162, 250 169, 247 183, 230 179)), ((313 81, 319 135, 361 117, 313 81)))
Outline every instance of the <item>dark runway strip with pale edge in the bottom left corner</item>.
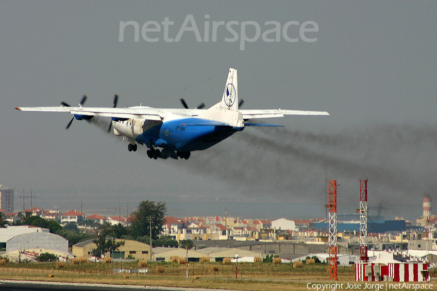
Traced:
MULTIPOLYGON (((152 287, 133 285, 72 284, 42 281, 0 280, 0 291, 209 291, 201 288, 152 287)), ((215 290, 218 291, 218 290, 215 290)))

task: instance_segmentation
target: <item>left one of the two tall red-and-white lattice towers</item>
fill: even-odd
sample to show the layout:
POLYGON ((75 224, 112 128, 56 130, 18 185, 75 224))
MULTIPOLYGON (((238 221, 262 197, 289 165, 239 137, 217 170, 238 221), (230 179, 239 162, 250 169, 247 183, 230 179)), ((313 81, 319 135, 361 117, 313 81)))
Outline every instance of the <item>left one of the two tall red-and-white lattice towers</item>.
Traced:
POLYGON ((329 280, 337 280, 337 181, 329 180, 328 187, 329 223, 329 280))

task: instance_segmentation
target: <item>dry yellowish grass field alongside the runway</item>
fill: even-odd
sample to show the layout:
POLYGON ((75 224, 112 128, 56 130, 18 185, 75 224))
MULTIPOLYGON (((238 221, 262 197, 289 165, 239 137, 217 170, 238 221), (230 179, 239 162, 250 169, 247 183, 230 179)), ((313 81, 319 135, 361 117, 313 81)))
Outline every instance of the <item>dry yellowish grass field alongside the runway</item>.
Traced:
MULTIPOLYGON (((293 268, 291 264, 238 263, 237 279, 235 279, 235 263, 223 265, 221 263, 190 262, 188 266, 188 278, 186 278, 186 265, 179 265, 176 262, 149 263, 146 267, 148 269, 148 273, 146 274, 113 272, 113 269, 120 268, 138 269, 138 265, 134 262, 123 263, 122 266, 119 262, 107 264, 67 263, 62 268, 56 268, 54 262, 25 264, 8 263, 0 266, 0 278, 248 291, 308 291, 311 290, 307 288, 308 283, 326 284, 333 282, 328 281, 327 265, 325 264, 304 264, 303 268, 293 268)), ((338 282, 343 283, 343 286, 336 290, 356 290, 346 288, 348 282, 356 283, 354 282, 353 268, 338 267, 338 282)), ((385 284, 386 282, 381 283, 385 284)), ((437 287, 437 282, 435 280, 431 283, 434 283, 433 286, 437 287)), ((437 288, 433 289, 437 290, 437 288)), ((375 289, 372 288, 368 290, 375 289)))

